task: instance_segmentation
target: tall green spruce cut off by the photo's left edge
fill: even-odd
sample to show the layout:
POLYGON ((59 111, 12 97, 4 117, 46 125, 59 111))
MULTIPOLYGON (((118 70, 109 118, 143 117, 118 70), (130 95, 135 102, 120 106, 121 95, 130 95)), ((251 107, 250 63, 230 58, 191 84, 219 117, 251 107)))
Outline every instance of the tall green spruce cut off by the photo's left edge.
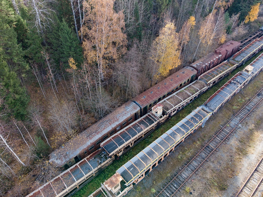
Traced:
POLYGON ((25 89, 21 88, 21 81, 16 72, 27 70, 28 65, 23 59, 21 45, 17 44, 15 30, 9 26, 8 17, 2 13, 0 13, 0 32, 0 86, 5 88, 4 104, 0 108, 7 107, 10 112, 8 115, 23 119, 29 97, 25 89))

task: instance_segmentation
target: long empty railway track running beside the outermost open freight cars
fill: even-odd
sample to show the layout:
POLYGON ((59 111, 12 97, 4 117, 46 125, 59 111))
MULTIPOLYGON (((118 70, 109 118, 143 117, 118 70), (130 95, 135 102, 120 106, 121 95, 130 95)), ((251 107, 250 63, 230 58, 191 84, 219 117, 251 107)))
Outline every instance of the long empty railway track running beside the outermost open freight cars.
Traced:
POLYGON ((219 147, 235 128, 257 108, 263 100, 263 88, 194 156, 194 158, 176 173, 174 178, 158 193, 160 197, 177 196, 177 191, 184 188, 184 184, 200 168, 207 158, 219 147))

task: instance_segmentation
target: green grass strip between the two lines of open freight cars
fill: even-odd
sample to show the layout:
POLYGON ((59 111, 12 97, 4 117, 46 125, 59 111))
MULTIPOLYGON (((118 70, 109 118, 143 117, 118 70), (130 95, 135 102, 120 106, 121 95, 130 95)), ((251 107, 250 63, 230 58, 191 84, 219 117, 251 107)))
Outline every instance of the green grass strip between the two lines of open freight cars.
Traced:
POLYGON ((94 192, 96 189, 98 189, 101 186, 101 183, 105 182, 105 180, 107 180, 112 175, 114 175, 115 171, 118 168, 120 168, 123 164, 129 161, 132 157, 138 154, 141 150, 147 147, 150 143, 152 143, 154 140, 160 137, 163 133, 165 133, 167 130, 169 130, 179 121, 181 121, 184 117, 190 114, 194 109, 196 109, 196 107, 202 105, 211 95, 213 95, 220 87, 222 87, 229 79, 231 79, 231 77, 233 77, 237 72, 243 70, 248 64, 250 64, 253 60, 255 60, 255 58, 258 57, 262 52, 263 50, 257 53, 243 66, 235 69, 229 76, 226 76, 222 81, 214 85, 210 90, 206 91, 200 97, 198 97, 193 102, 188 104, 186 107, 184 107, 184 109, 177 112, 174 116, 172 116, 172 118, 169 121, 163 123, 160 126, 160 128, 153 131, 153 133, 151 133, 148 137, 146 137, 144 140, 139 142, 136 146, 134 146, 129 151, 127 151, 127 153, 121 156, 119 160, 115 160, 110 166, 108 166, 103 172, 101 172, 101 174, 99 174, 91 182, 89 182, 82 189, 80 189, 76 194, 74 194, 73 197, 86 197, 90 195, 92 192, 94 192))

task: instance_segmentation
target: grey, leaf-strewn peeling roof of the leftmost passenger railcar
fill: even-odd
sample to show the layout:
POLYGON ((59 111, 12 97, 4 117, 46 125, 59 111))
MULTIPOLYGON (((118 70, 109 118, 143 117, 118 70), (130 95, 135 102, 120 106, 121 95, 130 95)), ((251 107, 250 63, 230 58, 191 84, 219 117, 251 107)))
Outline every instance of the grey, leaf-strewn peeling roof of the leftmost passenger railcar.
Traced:
POLYGON ((102 136, 110 132, 114 127, 127 119, 131 114, 135 114, 140 108, 132 101, 124 103, 108 116, 102 118, 82 133, 65 143, 64 147, 54 150, 49 157, 49 161, 62 166, 70 159, 84 151, 90 144, 95 143, 102 136))

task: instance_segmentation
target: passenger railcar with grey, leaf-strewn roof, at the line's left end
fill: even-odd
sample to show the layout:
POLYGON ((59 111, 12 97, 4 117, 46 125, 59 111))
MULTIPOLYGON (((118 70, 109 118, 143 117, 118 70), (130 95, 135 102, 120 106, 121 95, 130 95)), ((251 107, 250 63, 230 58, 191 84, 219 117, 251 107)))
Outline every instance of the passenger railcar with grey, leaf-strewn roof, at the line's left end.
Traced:
POLYGON ((91 125, 50 154, 49 161, 65 169, 100 148, 100 143, 140 117, 140 108, 132 101, 91 125))

